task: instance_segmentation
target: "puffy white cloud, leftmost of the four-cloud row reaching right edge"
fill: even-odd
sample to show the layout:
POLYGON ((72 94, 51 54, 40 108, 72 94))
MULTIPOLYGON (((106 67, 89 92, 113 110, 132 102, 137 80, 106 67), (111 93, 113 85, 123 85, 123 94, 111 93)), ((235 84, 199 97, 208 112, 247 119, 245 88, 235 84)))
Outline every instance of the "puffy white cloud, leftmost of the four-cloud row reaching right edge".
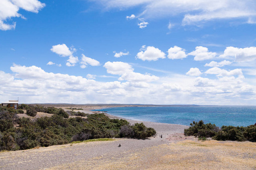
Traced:
POLYGON ((155 48, 154 46, 142 46, 142 51, 137 54, 137 58, 142 59, 143 61, 156 61, 159 58, 166 58, 166 54, 155 48), (144 51, 143 51, 144 50, 144 51))

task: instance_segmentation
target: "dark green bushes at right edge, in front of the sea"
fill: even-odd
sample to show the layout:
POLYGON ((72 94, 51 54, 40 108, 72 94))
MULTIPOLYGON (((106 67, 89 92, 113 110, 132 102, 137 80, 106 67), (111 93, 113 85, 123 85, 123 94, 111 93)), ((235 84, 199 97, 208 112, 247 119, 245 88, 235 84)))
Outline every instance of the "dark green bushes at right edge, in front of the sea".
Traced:
POLYGON ((217 141, 256 141, 256 125, 243 126, 222 126, 219 130, 214 124, 204 124, 203 121, 193 122, 191 127, 184 129, 185 135, 195 137, 212 137, 217 141))

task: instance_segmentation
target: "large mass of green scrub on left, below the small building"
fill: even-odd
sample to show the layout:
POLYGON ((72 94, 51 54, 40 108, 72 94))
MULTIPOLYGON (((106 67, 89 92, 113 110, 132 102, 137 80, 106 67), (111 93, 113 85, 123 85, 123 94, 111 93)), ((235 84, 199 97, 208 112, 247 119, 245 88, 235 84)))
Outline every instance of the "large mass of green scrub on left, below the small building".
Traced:
POLYGON ((110 119, 102 113, 88 114, 86 118, 68 117, 63 109, 54 107, 20 105, 17 110, 0 107, 0 151, 26 150, 100 138, 145 139, 156 133, 143 123, 130 125, 126 120, 110 119), (19 118, 19 109, 25 109, 29 116, 35 116, 36 112, 53 115, 33 120, 19 118))

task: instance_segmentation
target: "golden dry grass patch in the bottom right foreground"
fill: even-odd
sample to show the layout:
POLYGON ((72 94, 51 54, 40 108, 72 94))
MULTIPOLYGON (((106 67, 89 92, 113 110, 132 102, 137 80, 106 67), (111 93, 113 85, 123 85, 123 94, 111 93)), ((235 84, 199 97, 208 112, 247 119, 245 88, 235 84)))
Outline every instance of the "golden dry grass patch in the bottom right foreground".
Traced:
POLYGON ((182 141, 51 169, 256 169, 253 142, 182 141))

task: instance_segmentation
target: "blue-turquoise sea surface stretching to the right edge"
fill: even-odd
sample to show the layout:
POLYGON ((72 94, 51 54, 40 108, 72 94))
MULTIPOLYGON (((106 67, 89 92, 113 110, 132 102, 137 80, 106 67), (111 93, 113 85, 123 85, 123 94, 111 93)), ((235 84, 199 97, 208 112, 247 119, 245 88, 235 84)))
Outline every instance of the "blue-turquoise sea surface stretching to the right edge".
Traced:
POLYGON ((222 125, 248 126, 256 123, 256 106, 121 107, 105 108, 114 116, 150 122, 189 125, 203 120, 222 125))

